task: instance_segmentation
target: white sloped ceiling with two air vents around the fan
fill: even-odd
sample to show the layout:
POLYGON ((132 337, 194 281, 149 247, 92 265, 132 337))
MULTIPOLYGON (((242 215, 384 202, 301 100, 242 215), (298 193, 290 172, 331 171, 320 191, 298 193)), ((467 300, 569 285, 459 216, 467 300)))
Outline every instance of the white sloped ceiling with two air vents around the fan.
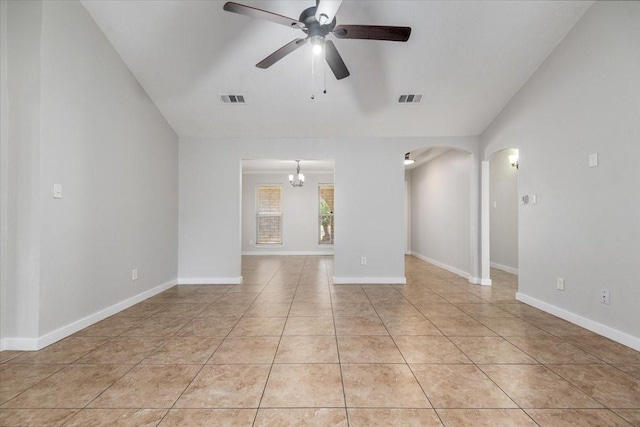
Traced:
MULTIPOLYGON (((296 19, 315 4, 238 2, 296 19)), ((225 12, 223 1, 83 4, 180 136, 394 137, 482 133, 591 2, 344 0, 338 24, 412 33, 407 43, 334 38, 351 76, 328 71, 327 94, 308 45, 255 67, 300 30, 225 12), (400 93, 425 98, 399 105, 400 93)))

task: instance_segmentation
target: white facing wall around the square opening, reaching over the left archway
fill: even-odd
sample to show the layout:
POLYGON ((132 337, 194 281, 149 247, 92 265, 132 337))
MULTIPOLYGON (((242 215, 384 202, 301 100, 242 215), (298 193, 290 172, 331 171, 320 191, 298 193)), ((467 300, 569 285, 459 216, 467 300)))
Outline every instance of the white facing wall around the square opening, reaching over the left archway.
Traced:
MULTIPOLYGON (((335 159, 338 282, 404 282, 404 154, 416 147, 474 147, 477 138, 181 138, 183 283, 239 282, 241 159, 335 159), (224 185, 220 185, 224 183, 224 185), (367 265, 360 265, 360 257, 367 265)), ((476 181, 478 182, 478 181, 476 181)), ((476 217, 477 220, 477 217, 476 217)))

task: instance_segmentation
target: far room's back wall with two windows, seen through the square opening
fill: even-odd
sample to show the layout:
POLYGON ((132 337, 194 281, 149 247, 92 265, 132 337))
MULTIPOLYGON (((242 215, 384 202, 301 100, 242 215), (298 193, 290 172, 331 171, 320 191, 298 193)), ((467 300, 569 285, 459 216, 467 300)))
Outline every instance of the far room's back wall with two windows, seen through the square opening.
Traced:
MULTIPOLYGON (((289 173, 245 173, 242 175, 242 252, 246 254, 333 254, 333 245, 318 244, 318 186, 333 184, 333 174, 308 173, 303 187, 289 184, 289 173), (282 245, 255 245, 256 186, 282 186, 282 245), (250 244, 252 241, 254 244, 250 244)), ((338 221, 338 217, 336 217, 338 221)))

